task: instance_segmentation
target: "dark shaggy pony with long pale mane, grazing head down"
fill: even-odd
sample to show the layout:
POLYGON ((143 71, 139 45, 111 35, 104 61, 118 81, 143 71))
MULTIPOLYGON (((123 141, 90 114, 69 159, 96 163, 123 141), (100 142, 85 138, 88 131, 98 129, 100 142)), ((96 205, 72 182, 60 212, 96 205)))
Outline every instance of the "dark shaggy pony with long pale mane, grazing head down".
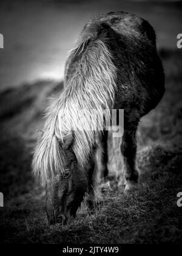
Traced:
POLYGON ((137 186, 136 130, 140 118, 157 106, 163 94, 163 65, 155 31, 146 20, 110 12, 84 26, 66 61, 64 91, 47 108, 44 132, 33 155, 33 174, 45 184, 50 224, 75 217, 85 195, 93 207, 98 144, 103 148, 103 176, 108 174, 103 110, 110 118, 112 109, 124 109, 123 185, 126 192, 137 186), (103 130, 89 129, 90 123, 103 130))

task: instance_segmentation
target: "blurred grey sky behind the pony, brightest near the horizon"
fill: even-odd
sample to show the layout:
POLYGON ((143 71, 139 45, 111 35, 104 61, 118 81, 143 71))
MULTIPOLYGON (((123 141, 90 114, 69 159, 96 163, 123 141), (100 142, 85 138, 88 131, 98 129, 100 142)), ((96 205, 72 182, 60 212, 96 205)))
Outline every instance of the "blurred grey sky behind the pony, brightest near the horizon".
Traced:
POLYGON ((84 24, 92 16, 118 10, 148 20, 156 30, 158 48, 177 47, 181 1, 1 0, 0 90, 38 79, 62 79, 67 54, 84 24))

